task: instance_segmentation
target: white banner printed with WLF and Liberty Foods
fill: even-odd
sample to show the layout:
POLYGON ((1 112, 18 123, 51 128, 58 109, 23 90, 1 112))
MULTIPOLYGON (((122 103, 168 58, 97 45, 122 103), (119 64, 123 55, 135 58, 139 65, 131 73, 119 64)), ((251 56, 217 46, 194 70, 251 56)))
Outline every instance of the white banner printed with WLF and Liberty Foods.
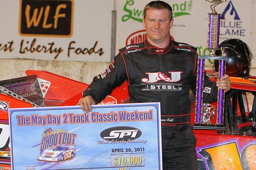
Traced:
POLYGON ((0 58, 110 62, 114 0, 0 3, 0 58))

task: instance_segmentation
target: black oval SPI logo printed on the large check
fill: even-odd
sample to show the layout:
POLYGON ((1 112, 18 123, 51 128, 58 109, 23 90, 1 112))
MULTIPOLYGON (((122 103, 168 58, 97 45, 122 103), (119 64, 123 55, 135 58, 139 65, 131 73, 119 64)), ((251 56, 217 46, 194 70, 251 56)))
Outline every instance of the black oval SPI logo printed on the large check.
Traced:
POLYGON ((134 140, 141 136, 140 129, 129 126, 116 126, 104 129, 100 133, 100 137, 106 141, 114 140, 127 141, 128 139, 134 140))

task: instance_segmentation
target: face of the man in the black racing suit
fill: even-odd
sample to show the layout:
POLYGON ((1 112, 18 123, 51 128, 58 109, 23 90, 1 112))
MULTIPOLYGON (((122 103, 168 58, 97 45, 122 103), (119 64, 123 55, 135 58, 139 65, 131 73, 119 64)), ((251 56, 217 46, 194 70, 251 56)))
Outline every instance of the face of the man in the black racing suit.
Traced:
POLYGON ((168 45, 173 19, 170 21, 167 9, 149 9, 146 17, 143 18, 143 26, 146 28, 147 39, 151 44, 160 48, 168 45))

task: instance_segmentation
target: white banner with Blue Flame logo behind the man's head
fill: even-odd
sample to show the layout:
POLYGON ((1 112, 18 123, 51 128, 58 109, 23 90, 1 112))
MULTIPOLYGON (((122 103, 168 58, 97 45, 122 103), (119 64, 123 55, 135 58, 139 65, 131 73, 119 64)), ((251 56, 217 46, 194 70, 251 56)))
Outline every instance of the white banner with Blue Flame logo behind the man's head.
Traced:
MULTIPOLYGON (((148 0, 116 1, 117 42, 116 50, 130 43, 138 43, 146 38, 142 26, 143 9, 148 0)), ((209 55, 208 18, 212 13, 210 3, 205 0, 166 0, 173 8, 174 25, 171 36, 178 42, 189 43, 200 49, 204 46, 204 55, 209 55)), ((215 7, 220 16, 219 43, 226 39, 241 39, 252 49, 253 0, 228 0, 215 7)), ((255 63, 255 59, 253 61, 255 63)), ((212 66, 213 61, 206 61, 212 66)))

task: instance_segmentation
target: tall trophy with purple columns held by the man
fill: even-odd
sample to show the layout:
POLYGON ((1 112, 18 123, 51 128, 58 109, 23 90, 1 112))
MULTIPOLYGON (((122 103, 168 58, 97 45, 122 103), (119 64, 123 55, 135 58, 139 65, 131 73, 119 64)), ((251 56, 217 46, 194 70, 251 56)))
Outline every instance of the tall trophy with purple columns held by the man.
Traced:
POLYGON ((198 56, 198 72, 197 72, 197 86, 196 86, 196 106, 195 106, 195 123, 194 129, 225 129, 223 126, 224 117, 224 90, 218 89, 218 101, 217 101, 217 114, 216 123, 210 121, 214 114, 208 114, 203 105, 203 87, 204 87, 204 66, 205 59, 219 60, 219 76, 220 79, 225 74, 225 67, 227 57, 215 56, 215 49, 219 48, 219 28, 220 28, 220 14, 215 11, 215 7, 227 0, 205 0, 212 4, 211 11, 208 19, 208 45, 207 48, 211 49, 210 56, 203 56, 203 47, 201 47, 201 56, 198 56), (206 123, 205 123, 206 119, 206 123))

